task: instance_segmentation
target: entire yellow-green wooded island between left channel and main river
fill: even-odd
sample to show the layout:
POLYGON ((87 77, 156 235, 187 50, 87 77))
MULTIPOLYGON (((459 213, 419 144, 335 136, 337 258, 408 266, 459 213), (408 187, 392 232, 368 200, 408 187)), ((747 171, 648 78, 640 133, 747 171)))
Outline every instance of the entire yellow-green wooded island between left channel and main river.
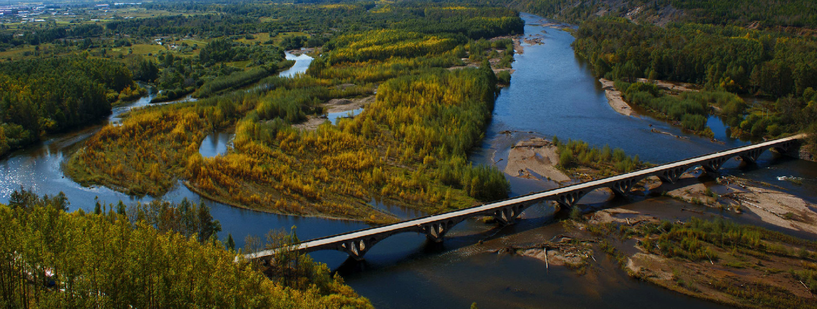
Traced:
MULTIPOLYGON (((465 24, 480 20, 488 33, 521 30, 508 28, 509 19, 519 19, 512 11, 439 10, 465 24)), ((373 223, 393 219, 368 205, 373 198, 427 212, 501 199, 508 192, 502 172, 471 166, 467 152, 482 138, 498 91, 489 59, 499 58, 494 48, 508 51, 510 41, 422 24, 413 22, 422 32, 338 35, 305 75, 266 77, 263 88, 133 112, 123 126, 89 139, 66 174, 154 196, 185 179, 194 191, 231 205, 373 223), (470 52, 480 55, 479 67, 445 69, 465 64, 461 58, 470 52), (317 130, 293 127, 321 117, 330 99, 375 90, 376 99, 357 117, 317 130), (230 152, 201 157, 203 135, 229 126, 235 128, 230 152)))

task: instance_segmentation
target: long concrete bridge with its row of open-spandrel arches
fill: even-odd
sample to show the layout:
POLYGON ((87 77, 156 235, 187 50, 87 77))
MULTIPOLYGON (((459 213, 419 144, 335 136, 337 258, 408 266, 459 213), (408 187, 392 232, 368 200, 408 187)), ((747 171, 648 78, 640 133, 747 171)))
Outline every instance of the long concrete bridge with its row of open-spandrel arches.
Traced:
MULTIPOLYGON (((690 168, 696 166, 702 166, 703 170, 714 174, 717 173, 725 161, 732 157, 740 157, 744 162, 753 163, 757 161, 757 157, 760 157, 762 152, 770 148, 774 148, 776 152, 780 153, 796 150, 799 145, 798 139, 802 139, 802 135, 772 139, 763 143, 727 149, 699 157, 691 157, 681 161, 635 170, 626 174, 618 174, 584 183, 576 183, 562 188, 516 196, 502 201, 493 201, 489 204, 476 205, 461 210, 453 210, 442 214, 409 219, 399 223, 369 227, 354 232, 302 241, 297 245, 293 245, 292 248, 286 249, 294 249, 302 253, 319 250, 339 250, 349 254, 351 258, 361 260, 364 254, 366 254, 373 245, 395 234, 417 232, 425 234, 431 241, 440 242, 443 241, 445 234, 449 232, 452 227, 465 219, 491 216, 499 224, 507 225, 513 223, 528 207, 544 201, 556 201, 560 206, 569 208, 576 205, 578 201, 582 199, 582 196, 599 188, 610 188, 616 195, 626 196, 636 183, 650 176, 658 176, 663 183, 675 183, 681 174, 684 174, 686 170, 690 170, 690 168)), ((246 254, 244 257, 247 259, 270 260, 276 250, 279 249, 269 249, 246 254)))

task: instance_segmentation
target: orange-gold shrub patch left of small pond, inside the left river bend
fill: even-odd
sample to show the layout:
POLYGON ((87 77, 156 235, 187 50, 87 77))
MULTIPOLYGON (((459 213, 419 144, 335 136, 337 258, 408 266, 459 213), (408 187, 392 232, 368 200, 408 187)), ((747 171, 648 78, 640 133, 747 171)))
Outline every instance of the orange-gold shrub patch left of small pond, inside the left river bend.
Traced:
POLYGON ((105 184, 130 195, 161 196, 176 184, 187 157, 224 116, 214 108, 171 104, 132 113, 122 126, 105 126, 65 166, 83 185, 105 184))

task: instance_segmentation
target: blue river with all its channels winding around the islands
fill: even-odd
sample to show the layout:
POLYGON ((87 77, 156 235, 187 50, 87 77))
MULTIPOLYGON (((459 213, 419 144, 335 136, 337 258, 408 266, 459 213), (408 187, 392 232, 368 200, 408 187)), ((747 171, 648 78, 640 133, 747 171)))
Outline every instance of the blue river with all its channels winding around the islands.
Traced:
MULTIPOLYGON (((486 138, 471 155, 475 163, 492 164, 507 158, 513 143, 531 136, 549 138, 557 135, 560 139, 582 139, 596 146, 609 144, 653 163, 676 161, 748 143, 727 139, 723 125, 715 117, 710 119, 709 125, 725 144, 685 134, 664 121, 626 117, 614 112, 587 65, 574 55, 570 46, 574 38, 561 29, 542 27, 542 19, 538 16, 523 14, 522 17, 527 23, 525 36, 542 38, 542 44, 524 44, 524 53, 516 55, 513 64, 516 72, 512 75, 511 86, 500 93, 486 138), (690 139, 652 133, 650 125, 690 139), (499 133, 504 130, 533 133, 499 133)), ((305 71, 311 61, 306 55, 287 57, 297 63, 281 73, 282 76, 305 71)), ((36 146, 0 159, 0 203, 6 203, 10 193, 20 186, 32 188, 40 194, 65 192, 72 203, 71 210, 83 208, 90 211, 96 198, 109 203, 150 201, 150 197, 136 198, 104 187, 84 188, 66 178, 60 164, 73 148, 81 147, 80 142, 93 135, 100 126, 118 121, 118 115, 131 108, 148 105, 152 97, 148 95, 127 106, 114 108, 109 120, 99 126, 51 136, 36 146)), ((231 135, 225 132, 208 135, 200 152, 208 157, 223 153, 230 138, 231 135)), ((501 169, 504 168, 502 162, 498 163, 501 169)), ((806 199, 817 199, 817 164, 775 158, 767 152, 758 166, 738 170, 734 162, 730 162, 723 173, 774 183, 806 199), (799 178, 803 184, 779 180, 780 177, 799 178)), ((534 179, 506 177, 511 181, 514 196, 555 187, 552 183, 534 179)), ((181 183, 162 196, 169 201, 181 201, 184 197, 194 201, 201 199, 181 183)), ((583 202, 589 204, 586 207, 596 209, 617 205, 633 210, 665 212, 679 219, 690 215, 689 212, 676 211, 678 207, 667 207, 677 205, 677 202, 666 198, 639 198, 626 203, 605 202, 604 197, 591 195, 583 202)), ((243 245, 244 236, 263 236, 276 228, 297 226, 298 236, 310 239, 368 227, 363 223, 266 214, 205 202, 211 206, 213 216, 221 221, 221 238, 224 239, 229 232, 239 246, 243 245)), ((401 217, 419 215, 398 207, 383 207, 389 207, 388 210, 401 217)), ((392 236, 374 246, 362 263, 346 260, 346 254, 334 251, 311 255, 341 273, 347 284, 381 308, 466 308, 471 302, 477 302, 480 308, 722 307, 631 279, 601 254, 597 257, 599 263, 587 275, 578 276, 561 267, 547 270, 542 262, 533 258, 487 253, 490 249, 507 245, 550 239, 562 228, 560 224, 549 224, 553 222, 552 214, 550 206, 534 206, 523 214, 519 223, 502 229, 469 220, 449 232, 441 245, 427 243, 425 236, 418 234, 392 236), (475 245, 480 240, 484 243, 475 245)), ((730 218, 744 220, 734 215, 730 218)))

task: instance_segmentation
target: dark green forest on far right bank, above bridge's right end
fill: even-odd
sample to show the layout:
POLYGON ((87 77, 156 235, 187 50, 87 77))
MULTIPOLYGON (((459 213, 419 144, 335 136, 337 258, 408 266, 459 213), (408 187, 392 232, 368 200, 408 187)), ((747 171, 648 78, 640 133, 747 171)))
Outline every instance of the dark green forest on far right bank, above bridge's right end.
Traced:
MULTIPOLYGON (((594 73, 618 81, 630 103, 685 129, 711 136, 705 118, 717 113, 734 136, 817 133, 817 40, 808 29, 787 28, 814 27, 813 2, 540 0, 516 6, 580 22, 574 48, 594 73), (639 78, 689 82, 707 92, 667 95, 639 78), (749 105, 729 93, 764 100, 749 105)), ((814 136, 811 144, 817 144, 814 136)))

